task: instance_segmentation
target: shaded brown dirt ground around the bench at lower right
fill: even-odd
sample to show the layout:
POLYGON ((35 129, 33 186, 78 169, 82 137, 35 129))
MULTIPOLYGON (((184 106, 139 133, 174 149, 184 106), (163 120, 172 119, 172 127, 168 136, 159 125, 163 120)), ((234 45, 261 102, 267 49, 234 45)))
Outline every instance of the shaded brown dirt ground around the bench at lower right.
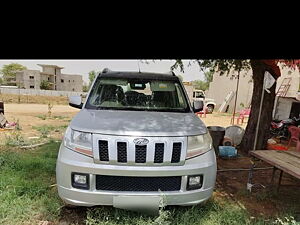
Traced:
POLYGON ((252 216, 274 217, 287 209, 293 210, 300 218, 300 180, 283 173, 281 185, 277 193, 279 171, 276 171, 273 185, 271 185, 272 168, 256 162, 256 168, 270 168, 255 170, 252 183, 252 193, 246 190, 249 171, 225 171, 225 169, 249 169, 251 158, 241 156, 237 159, 218 159, 217 194, 232 198, 237 204, 244 206, 252 216), (264 187, 262 187, 263 185, 264 187))

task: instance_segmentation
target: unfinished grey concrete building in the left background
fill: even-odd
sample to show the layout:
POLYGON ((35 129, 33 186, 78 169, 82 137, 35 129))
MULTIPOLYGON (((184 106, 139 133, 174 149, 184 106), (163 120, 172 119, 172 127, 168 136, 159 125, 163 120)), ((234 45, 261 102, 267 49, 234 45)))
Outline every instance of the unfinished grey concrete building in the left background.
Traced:
POLYGON ((81 75, 62 74, 63 67, 57 65, 38 64, 39 70, 23 70, 16 74, 16 83, 20 88, 41 89, 41 83, 48 81, 50 90, 81 92, 83 80, 81 75))

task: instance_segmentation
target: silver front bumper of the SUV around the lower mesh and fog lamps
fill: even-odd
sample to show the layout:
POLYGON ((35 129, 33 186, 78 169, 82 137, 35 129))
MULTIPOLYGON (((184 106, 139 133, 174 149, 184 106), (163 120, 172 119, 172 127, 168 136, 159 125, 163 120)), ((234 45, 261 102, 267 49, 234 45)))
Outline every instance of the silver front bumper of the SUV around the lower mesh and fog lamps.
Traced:
POLYGON ((212 195, 216 180, 216 157, 213 150, 186 160, 182 166, 116 166, 96 164, 90 157, 60 147, 56 179, 58 194, 67 204, 78 206, 113 205, 117 196, 164 196, 166 205, 195 205, 206 201, 212 195), (89 190, 73 188, 71 173, 89 174, 89 190), (111 176, 181 176, 179 191, 125 192, 96 190, 96 175, 111 176), (188 175, 203 175, 200 189, 186 190, 188 175))

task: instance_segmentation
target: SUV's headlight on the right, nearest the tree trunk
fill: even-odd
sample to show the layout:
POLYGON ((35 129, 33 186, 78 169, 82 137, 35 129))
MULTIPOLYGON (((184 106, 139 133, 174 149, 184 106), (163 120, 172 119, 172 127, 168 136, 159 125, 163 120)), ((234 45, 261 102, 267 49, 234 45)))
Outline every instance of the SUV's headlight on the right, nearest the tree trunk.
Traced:
POLYGON ((209 133, 188 137, 186 159, 201 155, 212 148, 212 139, 209 133))

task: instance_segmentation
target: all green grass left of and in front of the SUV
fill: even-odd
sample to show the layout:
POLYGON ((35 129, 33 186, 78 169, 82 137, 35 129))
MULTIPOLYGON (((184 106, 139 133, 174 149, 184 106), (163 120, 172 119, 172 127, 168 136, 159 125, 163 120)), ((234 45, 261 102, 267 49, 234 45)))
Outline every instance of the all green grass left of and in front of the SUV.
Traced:
POLYGON ((232 200, 215 196, 204 205, 167 207, 154 217, 112 207, 66 209, 53 185, 59 144, 50 142, 26 151, 13 148, 0 151, 1 225, 40 221, 59 224, 60 219, 65 224, 86 225, 297 224, 292 217, 271 220, 251 217, 232 200))

